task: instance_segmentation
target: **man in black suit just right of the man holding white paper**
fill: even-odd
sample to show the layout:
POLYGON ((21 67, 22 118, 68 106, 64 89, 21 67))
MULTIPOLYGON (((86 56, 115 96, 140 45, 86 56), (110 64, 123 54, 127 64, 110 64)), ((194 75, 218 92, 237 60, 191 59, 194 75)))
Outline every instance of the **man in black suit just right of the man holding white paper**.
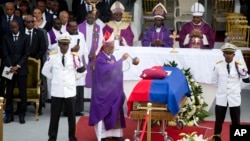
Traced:
MULTIPOLYGON (((43 66, 43 57, 46 53, 47 46, 43 31, 39 28, 34 28, 34 18, 32 15, 27 15, 24 19, 25 34, 29 36, 30 54, 29 56, 41 61, 41 68, 43 66)), ((42 84, 44 84, 42 82, 42 84)), ((43 94, 43 93, 42 93, 43 94)), ((42 100, 40 95, 39 114, 42 115, 42 106, 45 105, 45 100, 42 100)))

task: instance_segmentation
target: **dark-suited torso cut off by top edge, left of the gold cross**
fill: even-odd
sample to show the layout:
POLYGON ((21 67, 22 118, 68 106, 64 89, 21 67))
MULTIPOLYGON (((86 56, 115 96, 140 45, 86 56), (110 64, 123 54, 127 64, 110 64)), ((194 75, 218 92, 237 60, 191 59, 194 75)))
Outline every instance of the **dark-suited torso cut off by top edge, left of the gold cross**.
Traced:
POLYGON ((86 0, 73 0, 72 11, 78 24, 85 21, 88 11, 92 11, 92 6, 86 0))

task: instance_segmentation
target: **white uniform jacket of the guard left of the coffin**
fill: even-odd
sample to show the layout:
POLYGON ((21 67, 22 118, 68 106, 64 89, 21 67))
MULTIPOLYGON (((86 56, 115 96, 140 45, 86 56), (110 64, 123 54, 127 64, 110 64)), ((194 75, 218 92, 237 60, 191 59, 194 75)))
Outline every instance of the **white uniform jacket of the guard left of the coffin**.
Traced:
POLYGON ((62 64, 60 52, 50 55, 42 68, 42 74, 51 79, 51 96, 74 97, 76 95, 77 72, 73 55, 68 51, 65 54, 65 66, 62 64))

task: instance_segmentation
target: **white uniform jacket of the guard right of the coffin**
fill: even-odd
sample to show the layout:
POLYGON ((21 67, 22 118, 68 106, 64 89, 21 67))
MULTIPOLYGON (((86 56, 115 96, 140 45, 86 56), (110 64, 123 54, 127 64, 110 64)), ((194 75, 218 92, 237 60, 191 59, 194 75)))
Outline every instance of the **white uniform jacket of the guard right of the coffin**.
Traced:
POLYGON ((219 61, 214 67, 212 83, 217 84, 216 105, 240 106, 241 79, 248 78, 247 69, 237 61, 232 61, 229 66, 230 74, 225 61, 219 61))

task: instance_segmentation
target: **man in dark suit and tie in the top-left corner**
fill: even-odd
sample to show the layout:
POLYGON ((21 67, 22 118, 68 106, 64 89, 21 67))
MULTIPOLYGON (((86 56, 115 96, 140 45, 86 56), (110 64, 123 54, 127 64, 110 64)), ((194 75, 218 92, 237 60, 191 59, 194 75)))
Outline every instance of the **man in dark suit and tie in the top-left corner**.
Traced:
POLYGON ((22 18, 15 16, 14 12, 15 12, 14 3, 7 2, 5 4, 5 13, 6 14, 1 17, 2 18, 2 28, 3 28, 4 34, 11 33, 10 28, 9 28, 9 22, 12 20, 16 20, 18 22, 20 31, 23 31, 23 29, 24 29, 22 18))

